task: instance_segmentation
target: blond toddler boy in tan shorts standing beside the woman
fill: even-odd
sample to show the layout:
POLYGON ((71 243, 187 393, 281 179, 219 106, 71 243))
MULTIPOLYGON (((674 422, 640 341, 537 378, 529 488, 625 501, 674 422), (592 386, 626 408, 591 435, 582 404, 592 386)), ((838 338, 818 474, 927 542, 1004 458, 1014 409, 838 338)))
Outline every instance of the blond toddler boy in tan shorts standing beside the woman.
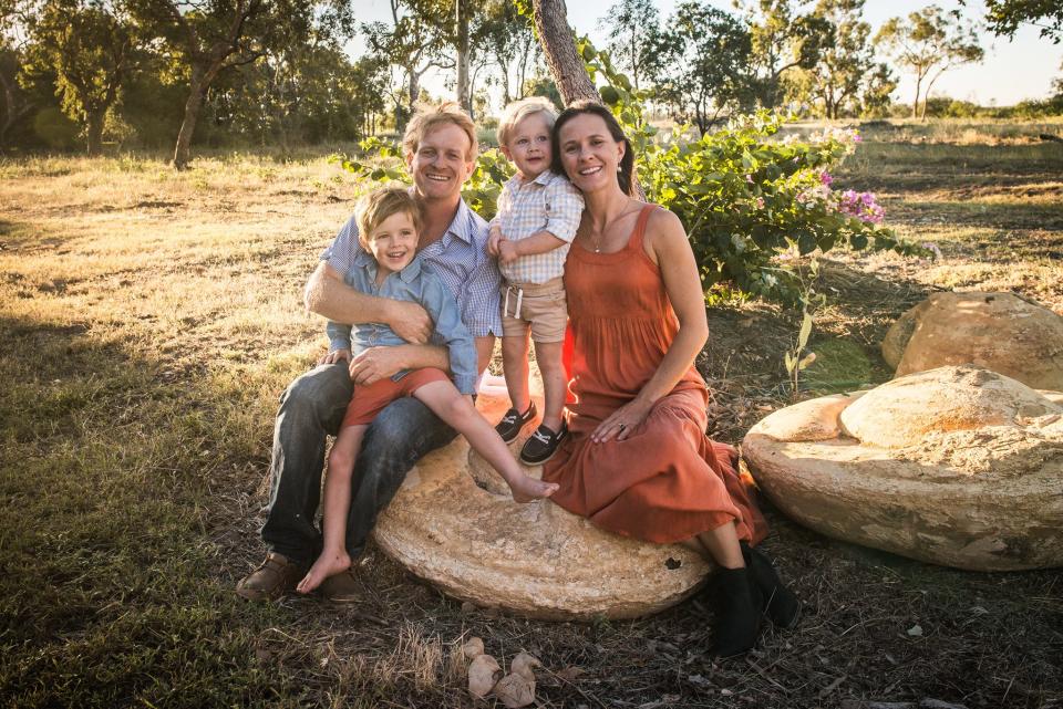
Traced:
POLYGON ((520 460, 528 465, 549 460, 568 435, 561 418, 566 392, 561 345, 568 323, 561 274, 584 198, 564 176, 549 169, 550 129, 556 118, 553 104, 540 96, 512 103, 503 112, 498 145, 517 174, 502 188, 487 242, 506 279, 502 362, 513 408, 495 427, 504 441, 513 441, 536 416, 528 394, 529 330, 543 374, 543 425, 520 450, 520 460))

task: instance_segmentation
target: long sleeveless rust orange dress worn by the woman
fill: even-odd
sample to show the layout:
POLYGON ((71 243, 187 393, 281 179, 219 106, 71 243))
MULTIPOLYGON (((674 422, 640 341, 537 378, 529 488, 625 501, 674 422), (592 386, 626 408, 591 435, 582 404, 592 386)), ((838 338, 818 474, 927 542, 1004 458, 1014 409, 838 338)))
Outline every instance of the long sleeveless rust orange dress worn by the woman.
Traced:
POLYGON ((590 440, 653 376, 679 330, 660 270, 642 249, 654 209, 642 208, 622 250, 572 244, 568 252, 571 434, 543 479, 560 484, 551 501, 623 536, 677 542, 734 521, 739 538, 756 543, 764 518, 735 471, 735 449, 705 436, 709 390, 693 366, 627 439, 590 440))

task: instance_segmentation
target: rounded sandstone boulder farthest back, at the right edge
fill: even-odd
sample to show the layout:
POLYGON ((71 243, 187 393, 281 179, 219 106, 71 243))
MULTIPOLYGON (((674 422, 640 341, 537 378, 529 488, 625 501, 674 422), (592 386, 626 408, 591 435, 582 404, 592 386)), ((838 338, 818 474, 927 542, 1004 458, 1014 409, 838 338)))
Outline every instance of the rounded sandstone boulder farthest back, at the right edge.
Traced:
POLYGON ((1063 317, 1012 293, 935 293, 894 323, 883 357, 897 376, 971 364, 1063 390, 1063 317))

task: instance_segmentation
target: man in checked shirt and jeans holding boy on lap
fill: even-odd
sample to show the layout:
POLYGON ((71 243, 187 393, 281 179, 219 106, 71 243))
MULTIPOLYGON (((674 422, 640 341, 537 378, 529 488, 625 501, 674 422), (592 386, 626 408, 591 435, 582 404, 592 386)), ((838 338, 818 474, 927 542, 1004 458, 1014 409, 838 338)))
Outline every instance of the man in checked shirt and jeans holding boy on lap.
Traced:
MULTIPOLYGON (((457 300, 462 320, 476 338, 483 372, 495 335, 502 334, 500 275, 487 257, 487 223, 461 194, 476 161, 476 129, 457 104, 445 103, 411 119, 403 150, 414 197, 424 210, 417 250, 457 300)), ((354 353, 354 380, 372 384, 402 369, 447 369, 446 348, 427 344, 433 323, 420 305, 367 295, 343 283, 348 269, 364 258, 369 257, 359 244, 352 218, 321 254, 306 286, 307 307, 314 313, 339 323, 386 323, 410 343, 354 353)), ((330 343, 329 354, 292 382, 281 397, 274 429, 272 486, 261 530, 268 554, 237 584, 236 592, 245 598, 274 599, 291 591, 320 551, 314 520, 326 437, 339 428, 352 390, 352 375, 344 362, 337 364, 336 351, 348 347, 347 342, 330 343)), ((412 397, 393 402, 376 416, 354 468, 347 528, 351 559, 361 554, 376 514, 394 497, 406 472, 455 435, 412 397)), ((357 584, 351 570, 327 578, 321 592, 332 601, 353 601, 357 584)))

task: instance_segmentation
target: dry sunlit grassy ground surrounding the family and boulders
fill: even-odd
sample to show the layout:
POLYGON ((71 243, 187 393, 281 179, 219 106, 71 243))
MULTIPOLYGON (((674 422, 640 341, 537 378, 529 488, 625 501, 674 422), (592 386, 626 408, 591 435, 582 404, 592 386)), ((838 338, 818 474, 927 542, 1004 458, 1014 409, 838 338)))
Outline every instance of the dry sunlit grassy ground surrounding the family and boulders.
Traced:
MULTIPOLYGON (((888 378, 878 342, 937 289, 1063 313, 1063 145, 1044 131, 868 128, 836 186, 879 192, 945 258, 832 253, 806 388, 888 378)), ((312 156, 182 174, 149 157, 0 161, 0 706, 472 707, 455 650, 477 635, 500 660, 543 660, 540 707, 1063 707, 1063 573, 929 566, 771 509, 766 548, 806 612, 727 663, 705 656, 696 599, 528 622, 463 608, 375 550, 362 603, 240 602, 277 397, 326 346, 301 285, 354 188, 312 156)), ((715 435, 736 441, 791 400, 796 321, 749 302, 711 325, 699 366, 715 435)))

